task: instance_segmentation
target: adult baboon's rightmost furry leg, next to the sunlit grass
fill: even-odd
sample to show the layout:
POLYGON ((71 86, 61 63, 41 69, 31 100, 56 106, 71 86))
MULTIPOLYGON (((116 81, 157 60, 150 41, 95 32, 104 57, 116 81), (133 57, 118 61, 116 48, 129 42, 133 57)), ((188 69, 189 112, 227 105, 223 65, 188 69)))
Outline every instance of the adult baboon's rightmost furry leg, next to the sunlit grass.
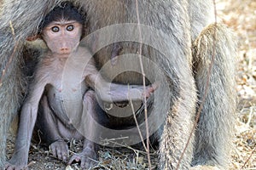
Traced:
POLYGON ((195 82, 203 107, 195 131, 193 166, 228 166, 236 110, 235 47, 232 33, 220 24, 208 26, 195 40, 195 82))

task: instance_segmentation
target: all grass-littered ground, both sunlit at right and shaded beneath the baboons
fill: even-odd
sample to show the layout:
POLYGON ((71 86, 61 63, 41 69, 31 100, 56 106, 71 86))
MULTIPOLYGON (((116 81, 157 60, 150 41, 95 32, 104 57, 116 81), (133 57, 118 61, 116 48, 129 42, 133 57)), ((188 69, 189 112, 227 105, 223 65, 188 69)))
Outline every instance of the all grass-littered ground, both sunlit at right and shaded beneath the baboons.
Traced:
MULTIPOLYGON (((256 1, 218 0, 218 21, 232 28, 238 37, 237 64, 237 121, 236 137, 230 169, 256 169, 256 1)), ((11 156, 14 140, 9 139, 7 153, 11 156)), ((81 150, 81 141, 71 141, 70 155, 81 150)), ((151 151, 153 167, 157 165, 157 153, 151 151)), ((145 169, 148 167, 143 150, 101 148, 98 165, 94 169, 145 169)), ((67 167, 49 153, 48 148, 32 144, 29 167, 39 169, 77 170, 78 164, 67 167)))

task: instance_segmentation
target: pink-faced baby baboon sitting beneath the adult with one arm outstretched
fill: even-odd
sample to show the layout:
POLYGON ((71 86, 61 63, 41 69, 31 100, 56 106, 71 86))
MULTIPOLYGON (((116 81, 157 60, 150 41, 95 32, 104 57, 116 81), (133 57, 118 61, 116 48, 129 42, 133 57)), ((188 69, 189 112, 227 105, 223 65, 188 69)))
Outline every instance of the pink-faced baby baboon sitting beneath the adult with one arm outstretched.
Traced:
MULTIPOLYGON (((20 114, 19 131, 15 144, 15 154, 6 169, 22 169, 26 167, 28 160, 28 150, 32 138, 32 129, 36 122, 38 114, 38 104, 42 99, 43 111, 41 111, 40 119, 38 119, 38 127, 44 134, 44 139, 49 141, 51 150, 55 157, 63 161, 67 161, 68 150, 67 143, 64 139, 84 139, 84 149, 81 153, 74 155, 69 164, 73 161, 81 161, 82 168, 89 168, 96 160, 96 146, 93 142, 85 139, 80 134, 67 117, 66 110, 62 99, 62 75, 67 65, 70 55, 73 55, 75 64, 72 65, 73 70, 79 63, 87 63, 84 65, 84 74, 81 78, 84 81, 72 81, 73 77, 78 76, 76 71, 68 70, 69 83, 67 88, 81 86, 81 93, 84 94, 84 105, 87 107, 87 113, 96 117, 94 108, 96 107, 96 94, 104 101, 124 101, 143 99, 143 87, 131 85, 129 90, 126 85, 111 84, 106 82, 96 70, 95 62, 87 48, 79 47, 79 41, 82 35, 83 18, 78 10, 73 8, 71 3, 63 3, 61 7, 54 8, 44 19, 42 26, 42 38, 47 44, 49 50, 44 58, 39 62, 34 81, 32 82, 27 99, 22 106, 20 114), (96 81, 97 80, 97 81, 96 81), (74 86, 75 83, 80 83, 74 86), (93 88, 96 93, 89 89, 93 88), (108 87, 111 87, 108 89, 108 87), (114 89, 113 89, 114 88, 114 89), (113 89, 113 90, 112 90, 113 89), (129 90, 129 92, 128 92, 129 90)), ((68 82, 64 82, 68 83, 68 82)), ((78 91, 79 88, 73 88, 78 91)), ((153 87, 146 88, 146 96, 154 92, 153 87)), ((76 95, 75 93, 69 94, 76 95)), ((79 96, 77 96, 79 99, 79 96)), ((70 100, 70 99, 67 99, 70 100)), ((82 102, 82 100, 81 100, 82 102)), ((72 105, 72 104, 70 104, 72 105)), ((72 105, 72 107, 75 107, 72 105)), ((68 116, 76 113, 73 111, 68 116)), ((86 113, 84 113, 86 114, 86 113)), ((87 126, 88 132, 95 132, 95 127, 87 126)))

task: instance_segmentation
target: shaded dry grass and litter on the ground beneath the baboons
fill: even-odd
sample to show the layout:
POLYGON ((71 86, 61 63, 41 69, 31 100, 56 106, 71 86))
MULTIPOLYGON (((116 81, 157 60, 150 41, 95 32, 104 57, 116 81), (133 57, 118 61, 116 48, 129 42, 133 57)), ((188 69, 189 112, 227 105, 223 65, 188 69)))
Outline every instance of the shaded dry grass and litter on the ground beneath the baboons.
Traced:
MULTIPOLYGON (((8 141, 8 156, 12 156, 14 151, 14 138, 10 138, 8 141)), ((82 141, 73 140, 69 143, 69 154, 72 156, 74 153, 78 153, 82 150, 82 141)), ((122 148, 108 148, 102 147, 99 152, 99 160, 96 162, 96 166, 92 169, 146 169, 148 167, 147 152, 130 146, 124 146, 122 148)), ((151 150, 150 157, 153 163, 153 169, 157 165, 157 153, 151 150)), ((79 164, 73 164, 67 166, 65 163, 55 159, 49 153, 47 148, 42 145, 32 144, 29 152, 29 165, 32 170, 44 170, 44 169, 66 169, 66 170, 79 170, 79 164)))

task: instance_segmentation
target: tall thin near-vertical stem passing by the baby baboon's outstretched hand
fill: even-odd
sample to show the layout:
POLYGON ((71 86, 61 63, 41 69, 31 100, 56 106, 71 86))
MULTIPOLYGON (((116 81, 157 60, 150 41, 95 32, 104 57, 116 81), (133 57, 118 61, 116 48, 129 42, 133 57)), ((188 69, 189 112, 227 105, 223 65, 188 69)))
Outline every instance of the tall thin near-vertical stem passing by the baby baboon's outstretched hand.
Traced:
POLYGON ((152 169, 151 167, 151 161, 150 161, 150 154, 149 154, 149 130, 148 130, 148 105, 147 105, 147 99, 146 99, 146 78, 145 78, 145 72, 143 68, 143 58, 142 58, 142 52, 143 52, 143 37, 142 37, 142 30, 141 30, 141 21, 140 21, 140 16, 139 16, 139 9, 138 9, 138 1, 136 0, 136 12, 137 12, 137 26, 138 26, 138 31, 139 31, 139 38, 140 38, 140 48, 139 48, 139 59, 140 59, 140 65, 142 69, 142 74, 143 74, 143 90, 144 90, 144 95, 143 95, 143 100, 145 102, 144 104, 144 113, 145 113, 145 122, 146 122, 146 133, 147 133, 147 153, 148 153, 148 166, 149 169, 152 169))

